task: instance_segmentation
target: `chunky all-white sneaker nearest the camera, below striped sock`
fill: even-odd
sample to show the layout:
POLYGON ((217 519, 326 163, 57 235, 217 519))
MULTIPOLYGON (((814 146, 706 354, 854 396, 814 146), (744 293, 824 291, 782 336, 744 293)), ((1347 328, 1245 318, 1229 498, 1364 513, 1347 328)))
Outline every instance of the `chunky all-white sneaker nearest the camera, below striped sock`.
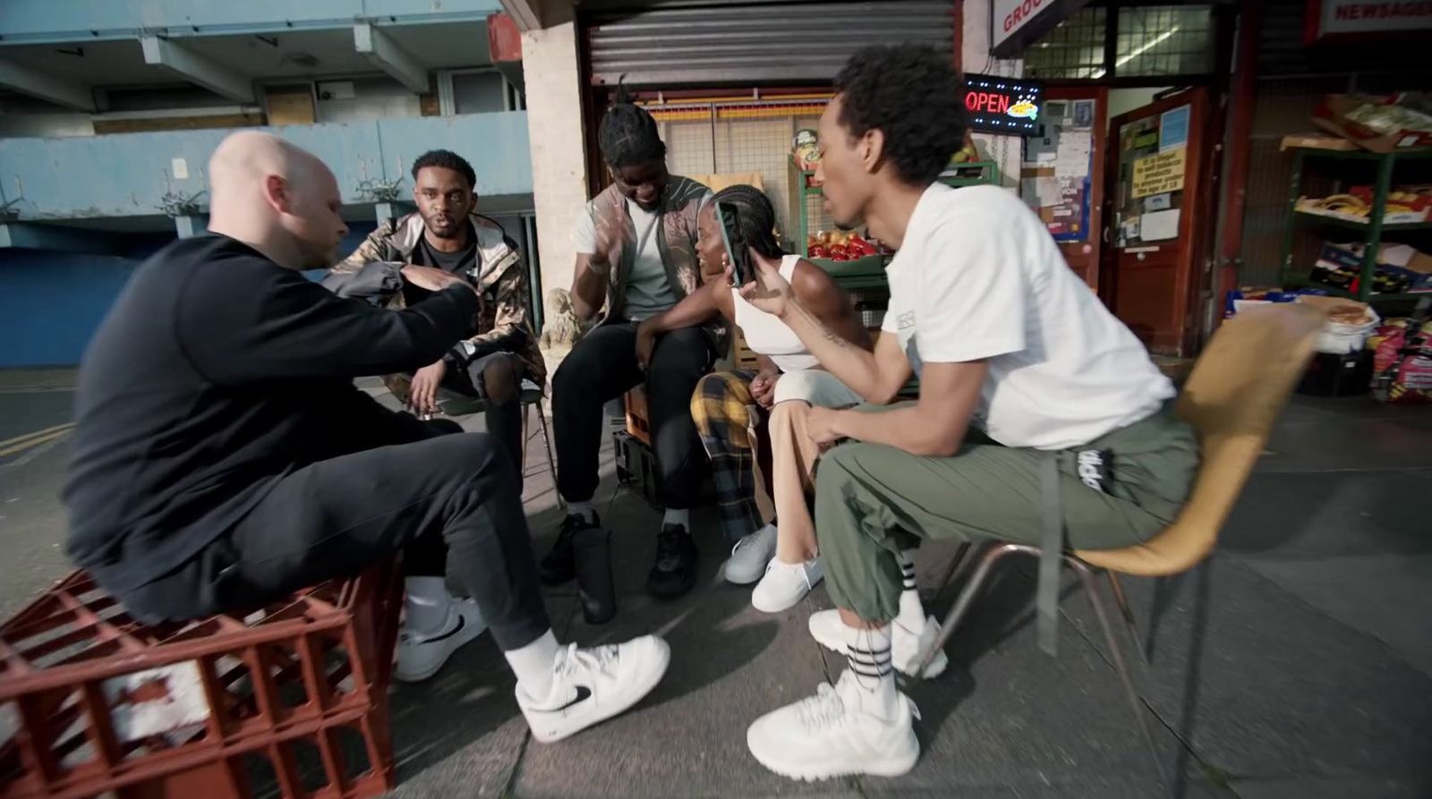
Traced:
POLYGON ((766 713, 746 730, 746 746, 778 775, 818 780, 845 775, 899 776, 915 767, 915 704, 896 694, 892 719, 862 707, 859 677, 851 670, 835 687, 766 713))

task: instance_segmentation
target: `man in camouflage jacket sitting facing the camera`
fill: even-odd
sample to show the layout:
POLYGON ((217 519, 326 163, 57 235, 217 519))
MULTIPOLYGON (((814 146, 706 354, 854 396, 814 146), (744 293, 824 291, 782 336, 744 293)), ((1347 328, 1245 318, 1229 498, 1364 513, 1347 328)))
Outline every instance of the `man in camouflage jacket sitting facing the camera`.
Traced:
POLYGON ((418 212, 379 225, 324 285, 342 296, 404 308, 427 294, 404 281, 405 269, 464 275, 481 298, 471 335, 441 361, 412 375, 385 375, 384 382, 420 414, 438 410, 440 388, 485 400, 487 431, 521 468, 521 381, 547 379, 527 322, 527 268, 503 228, 474 212, 475 173, 467 160, 447 150, 425 153, 412 165, 412 180, 418 212))

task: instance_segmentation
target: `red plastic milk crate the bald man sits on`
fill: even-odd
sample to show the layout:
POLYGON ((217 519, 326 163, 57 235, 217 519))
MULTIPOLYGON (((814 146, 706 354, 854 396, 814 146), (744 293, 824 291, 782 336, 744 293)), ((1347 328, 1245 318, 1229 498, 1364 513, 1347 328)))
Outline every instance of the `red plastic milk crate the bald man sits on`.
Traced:
POLYGON ((0 626, 0 799, 357 799, 394 785, 392 563, 146 626, 76 571, 0 626))

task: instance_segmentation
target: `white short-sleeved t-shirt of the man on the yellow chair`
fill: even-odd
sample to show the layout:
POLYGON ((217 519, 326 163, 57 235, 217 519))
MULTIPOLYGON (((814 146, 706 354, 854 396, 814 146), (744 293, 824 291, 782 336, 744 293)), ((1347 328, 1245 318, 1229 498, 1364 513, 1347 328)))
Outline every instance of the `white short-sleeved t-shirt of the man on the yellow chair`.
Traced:
POLYGON ((924 364, 987 359, 974 424, 1007 447, 1064 450, 1158 411, 1173 384, 997 186, 925 190, 888 269, 882 329, 924 364))

